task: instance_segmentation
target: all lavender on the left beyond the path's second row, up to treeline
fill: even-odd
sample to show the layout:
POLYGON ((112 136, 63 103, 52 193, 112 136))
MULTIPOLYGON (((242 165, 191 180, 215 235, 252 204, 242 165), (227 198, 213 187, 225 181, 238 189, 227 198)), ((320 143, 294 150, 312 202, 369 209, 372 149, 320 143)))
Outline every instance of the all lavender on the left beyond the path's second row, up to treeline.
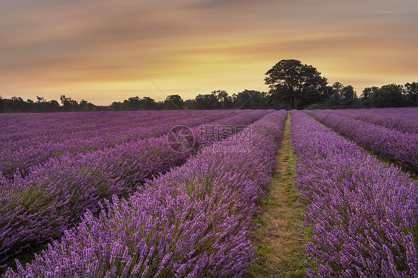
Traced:
POLYGON ((196 126, 243 111, 132 111, 0 115, 0 172, 26 174, 51 157, 84 153, 196 126), (51 115, 52 114, 52 115, 51 115), (39 121, 39 122, 36 122, 39 121))

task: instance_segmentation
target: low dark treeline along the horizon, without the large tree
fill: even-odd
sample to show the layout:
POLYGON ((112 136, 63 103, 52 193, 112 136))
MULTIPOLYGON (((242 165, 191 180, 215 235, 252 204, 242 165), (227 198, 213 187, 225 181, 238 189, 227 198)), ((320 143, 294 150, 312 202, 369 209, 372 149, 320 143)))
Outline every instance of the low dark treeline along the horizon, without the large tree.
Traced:
MULTIPOLYGON (((334 83, 327 86, 324 99, 318 99, 310 105, 298 106, 298 109, 345 109, 345 108, 383 108, 417 107, 418 82, 405 85, 389 84, 382 87, 366 87, 358 96, 350 85, 334 83)), ((132 110, 175 110, 175 109, 291 109, 289 102, 277 101, 272 91, 261 92, 244 90, 229 95, 225 90, 199 94, 194 99, 184 101, 179 95, 169 95, 164 101, 156 102, 150 97, 130 97, 123 102, 110 105, 95 105, 86 100, 76 101, 61 95, 60 102, 47 101, 36 97, 36 101, 23 100, 21 97, 3 99, 0 96, 0 113, 36 113, 36 112, 74 112, 74 111, 132 111, 132 110)), ((312 103, 312 102, 311 102, 312 103)))

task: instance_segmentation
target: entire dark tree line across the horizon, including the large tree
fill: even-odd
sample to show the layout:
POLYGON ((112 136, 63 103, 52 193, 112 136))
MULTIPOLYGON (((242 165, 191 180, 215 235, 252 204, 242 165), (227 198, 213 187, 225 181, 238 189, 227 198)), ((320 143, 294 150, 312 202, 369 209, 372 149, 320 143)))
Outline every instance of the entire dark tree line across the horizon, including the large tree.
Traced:
POLYGON ((95 105, 84 99, 76 101, 65 95, 60 96, 60 102, 47 101, 39 96, 36 96, 36 101, 25 101, 21 97, 3 99, 0 96, 0 113, 418 107, 418 82, 366 87, 361 95, 357 95, 351 85, 335 82, 330 86, 317 69, 294 59, 279 61, 266 75, 264 81, 269 87, 268 92, 245 89, 229 95, 225 90, 215 90, 185 101, 179 95, 169 95, 164 101, 136 96, 110 105, 95 105))

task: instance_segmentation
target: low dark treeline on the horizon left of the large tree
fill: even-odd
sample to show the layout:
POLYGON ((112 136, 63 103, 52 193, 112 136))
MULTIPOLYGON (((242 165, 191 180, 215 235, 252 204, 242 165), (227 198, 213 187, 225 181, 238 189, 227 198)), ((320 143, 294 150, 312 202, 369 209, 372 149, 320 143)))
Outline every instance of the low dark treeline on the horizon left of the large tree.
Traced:
POLYGON ((282 109, 287 104, 269 102, 266 92, 244 90, 232 96, 224 90, 209 94, 199 94, 194 99, 184 101, 179 95, 169 95, 164 101, 155 101, 150 97, 130 97, 123 102, 110 105, 95 105, 86 100, 76 101, 61 95, 60 102, 46 101, 36 97, 36 101, 23 100, 21 97, 2 99, 0 113, 36 113, 36 112, 76 112, 76 111, 133 111, 133 110, 176 110, 176 109, 282 109))

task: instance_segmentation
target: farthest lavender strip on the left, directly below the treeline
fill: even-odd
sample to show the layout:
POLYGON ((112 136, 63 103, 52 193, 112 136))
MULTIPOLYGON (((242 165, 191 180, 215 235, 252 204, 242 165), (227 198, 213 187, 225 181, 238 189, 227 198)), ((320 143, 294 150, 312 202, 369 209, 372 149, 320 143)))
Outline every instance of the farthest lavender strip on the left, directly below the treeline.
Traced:
POLYGON ((59 142, 83 133, 88 138, 92 131, 103 133, 110 129, 122 132, 160 118, 179 117, 176 111, 3 114, 0 115, 0 129, 3 131, 0 150, 14 151, 50 141, 59 142))

